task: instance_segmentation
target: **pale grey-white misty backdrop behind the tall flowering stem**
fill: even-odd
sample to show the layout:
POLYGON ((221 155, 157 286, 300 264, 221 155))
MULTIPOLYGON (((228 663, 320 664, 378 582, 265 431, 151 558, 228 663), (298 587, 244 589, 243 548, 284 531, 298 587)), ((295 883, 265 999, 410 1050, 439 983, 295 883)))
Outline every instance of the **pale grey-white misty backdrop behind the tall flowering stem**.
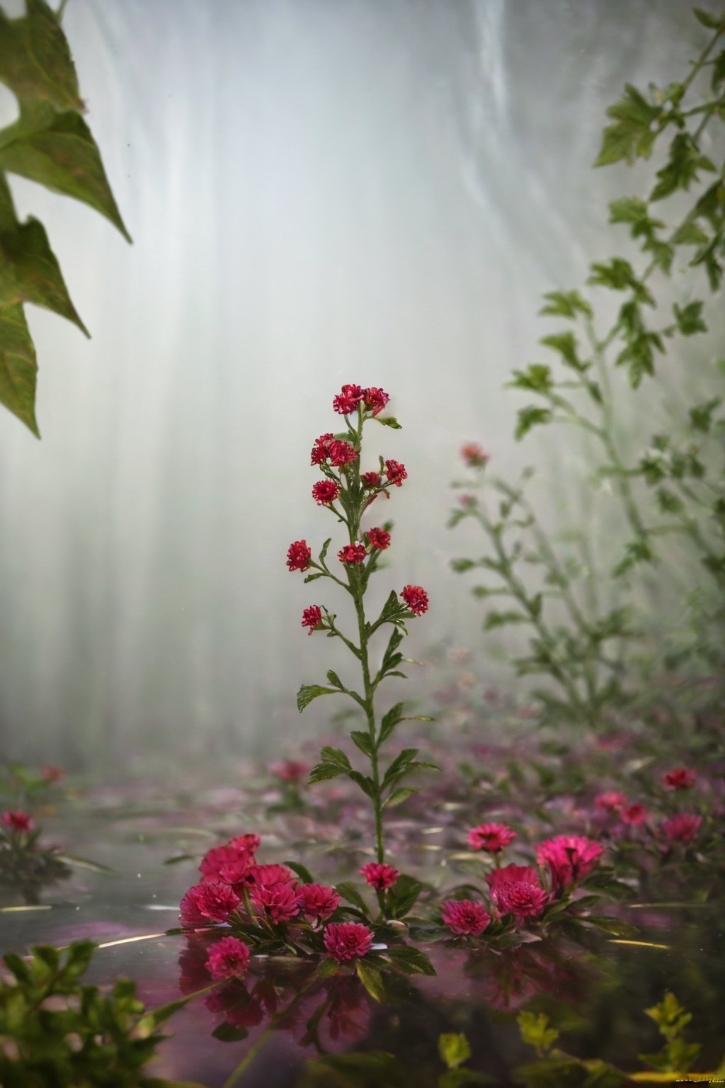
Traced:
POLYGON ((63 27, 134 245, 12 177, 92 339, 29 307, 42 441, 0 416, 0 754, 123 767, 320 730, 333 701, 300 717, 296 691, 345 657, 301 610, 343 606, 285 557, 339 532, 310 447, 345 382, 403 426, 366 428, 366 467, 409 472, 376 593, 424 585, 407 652, 467 645, 493 675, 449 569, 459 449, 539 463, 551 516, 583 517, 577 441, 516 444, 502 386, 553 331, 540 294, 627 249, 607 201, 640 168, 591 169, 604 109, 686 73, 689 4, 68 0, 63 27))

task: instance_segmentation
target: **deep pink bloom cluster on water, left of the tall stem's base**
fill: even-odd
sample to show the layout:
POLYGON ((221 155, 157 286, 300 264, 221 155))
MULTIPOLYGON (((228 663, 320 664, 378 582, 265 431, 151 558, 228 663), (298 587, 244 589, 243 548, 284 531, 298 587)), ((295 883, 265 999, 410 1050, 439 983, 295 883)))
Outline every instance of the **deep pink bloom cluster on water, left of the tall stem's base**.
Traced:
MULTIPOLYGON (((255 858, 259 845, 259 836, 242 834, 204 854, 199 866, 201 882, 189 888, 180 903, 179 919, 186 929, 228 925, 235 918, 277 926, 304 919, 317 927, 332 917, 341 902, 334 888, 299 883, 286 865, 260 865, 255 858), (246 901, 252 917, 247 914, 246 901)), ((392 866, 377 868, 386 870, 377 874, 377 879, 390 881, 384 887, 395 883, 399 874, 392 866), (387 870, 395 874, 392 879, 387 870)), ((353 923, 330 923, 323 936, 328 954, 340 962, 364 955, 372 939, 367 926, 353 923)), ((248 947, 233 936, 215 943, 207 961, 215 981, 240 976, 248 965, 248 947)))

